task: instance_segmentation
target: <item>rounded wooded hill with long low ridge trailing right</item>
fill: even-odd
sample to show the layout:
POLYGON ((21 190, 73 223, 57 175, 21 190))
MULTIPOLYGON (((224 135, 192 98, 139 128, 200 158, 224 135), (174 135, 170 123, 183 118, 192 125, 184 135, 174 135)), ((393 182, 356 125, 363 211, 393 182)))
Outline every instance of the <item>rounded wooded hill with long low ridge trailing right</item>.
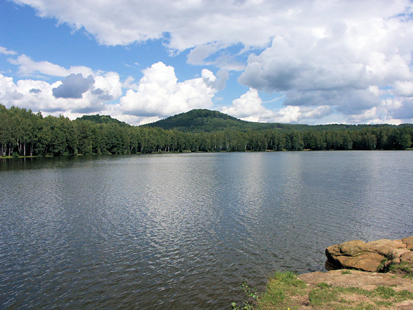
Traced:
MULTIPOLYGON (((180 132, 221 132, 223 130, 238 130, 248 132, 251 130, 281 130, 283 132, 304 132, 315 130, 361 130, 366 127, 395 127, 394 125, 304 125, 304 124, 282 124, 282 123, 257 123, 242 121, 227 114, 211 110, 191 110, 189 112, 176 114, 160 121, 143 125, 144 127, 160 127, 164 130, 177 130, 180 132)), ((402 125, 403 126, 403 125, 402 125)), ((405 124, 411 127, 412 124, 405 124)))

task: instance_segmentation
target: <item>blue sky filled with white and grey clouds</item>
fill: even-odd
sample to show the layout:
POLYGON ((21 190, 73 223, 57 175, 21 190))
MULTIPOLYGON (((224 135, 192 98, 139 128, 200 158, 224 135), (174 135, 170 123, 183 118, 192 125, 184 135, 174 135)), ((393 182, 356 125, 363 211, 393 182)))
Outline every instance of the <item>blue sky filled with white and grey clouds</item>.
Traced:
POLYGON ((412 57, 410 0, 0 0, 0 103, 43 116, 413 123, 412 57))

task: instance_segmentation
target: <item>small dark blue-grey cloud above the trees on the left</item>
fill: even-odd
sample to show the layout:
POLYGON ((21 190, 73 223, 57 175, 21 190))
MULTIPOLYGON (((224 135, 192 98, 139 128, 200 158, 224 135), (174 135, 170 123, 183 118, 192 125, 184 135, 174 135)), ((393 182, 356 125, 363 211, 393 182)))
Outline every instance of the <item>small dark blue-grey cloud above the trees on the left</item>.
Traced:
MULTIPOLYGON (((87 79, 83 79, 82 74, 70 74, 62 80, 61 85, 52 89, 52 93, 54 98, 79 99, 82 98, 82 94, 87 92, 93 83, 94 78, 92 75, 87 76, 87 79)), ((100 94, 99 92, 98 95, 100 94)))

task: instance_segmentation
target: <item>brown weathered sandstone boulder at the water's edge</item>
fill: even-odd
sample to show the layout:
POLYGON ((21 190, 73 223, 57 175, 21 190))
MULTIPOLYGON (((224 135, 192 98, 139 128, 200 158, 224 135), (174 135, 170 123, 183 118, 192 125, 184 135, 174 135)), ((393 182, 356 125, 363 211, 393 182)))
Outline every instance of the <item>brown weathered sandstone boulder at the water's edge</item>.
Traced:
POLYGON ((413 236, 372 242, 352 240, 326 249, 326 269, 381 271, 391 263, 413 264, 413 236))

